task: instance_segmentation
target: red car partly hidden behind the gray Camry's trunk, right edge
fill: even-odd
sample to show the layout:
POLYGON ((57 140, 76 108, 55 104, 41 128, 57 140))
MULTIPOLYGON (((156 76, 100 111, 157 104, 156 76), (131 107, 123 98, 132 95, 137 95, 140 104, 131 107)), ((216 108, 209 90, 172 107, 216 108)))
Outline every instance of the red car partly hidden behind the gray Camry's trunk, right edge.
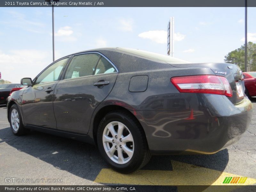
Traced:
POLYGON ((244 86, 247 97, 256 96, 256 72, 244 72, 244 86))

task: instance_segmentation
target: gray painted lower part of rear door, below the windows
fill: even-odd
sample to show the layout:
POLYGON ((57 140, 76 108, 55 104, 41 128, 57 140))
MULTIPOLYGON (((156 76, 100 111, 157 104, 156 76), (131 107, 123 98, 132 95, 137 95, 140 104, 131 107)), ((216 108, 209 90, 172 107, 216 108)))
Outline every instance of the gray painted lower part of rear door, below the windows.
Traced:
POLYGON ((87 134, 94 109, 108 96, 117 75, 101 74, 59 81, 53 100, 57 129, 87 134), (101 81, 109 81, 109 84, 93 85, 101 81))

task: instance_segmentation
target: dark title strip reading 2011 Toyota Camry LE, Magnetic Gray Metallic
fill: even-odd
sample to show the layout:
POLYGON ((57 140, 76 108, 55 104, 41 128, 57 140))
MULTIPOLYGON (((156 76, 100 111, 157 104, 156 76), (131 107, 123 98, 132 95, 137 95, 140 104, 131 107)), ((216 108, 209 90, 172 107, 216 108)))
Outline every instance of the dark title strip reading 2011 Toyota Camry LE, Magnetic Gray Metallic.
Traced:
MULTIPOLYGON (((256 7, 255 0, 246 0, 256 7)), ((245 0, 3 0, 0 7, 244 7, 245 0)))

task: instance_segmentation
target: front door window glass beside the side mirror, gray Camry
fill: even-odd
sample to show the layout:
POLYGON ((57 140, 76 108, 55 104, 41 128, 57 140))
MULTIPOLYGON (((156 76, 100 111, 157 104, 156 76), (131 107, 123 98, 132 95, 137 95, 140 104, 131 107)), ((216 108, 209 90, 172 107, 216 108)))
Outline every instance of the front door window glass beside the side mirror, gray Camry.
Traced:
POLYGON ((56 63, 53 63, 50 67, 45 69, 41 75, 39 75, 36 78, 35 85, 57 81, 67 61, 68 61, 68 58, 65 58, 57 61, 56 63))

